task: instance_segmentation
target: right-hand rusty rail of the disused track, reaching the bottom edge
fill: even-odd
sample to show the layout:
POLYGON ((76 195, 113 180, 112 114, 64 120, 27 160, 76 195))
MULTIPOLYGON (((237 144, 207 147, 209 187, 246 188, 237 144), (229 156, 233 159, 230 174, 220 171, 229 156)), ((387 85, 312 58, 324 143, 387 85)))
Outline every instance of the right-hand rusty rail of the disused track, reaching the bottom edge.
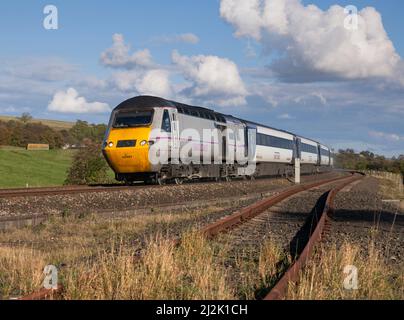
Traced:
POLYGON ((307 263, 308 259, 310 258, 316 244, 321 240, 324 227, 326 221, 328 219, 328 214, 334 210, 334 199, 339 191, 343 188, 348 186, 349 184, 362 179, 363 176, 353 176, 349 178, 347 181, 342 182, 337 187, 333 188, 329 191, 327 200, 321 214, 320 220, 317 223, 317 226, 314 232, 311 234, 305 248, 303 249, 302 253, 300 254, 299 258, 289 267, 286 273, 282 276, 282 278, 277 282, 277 284, 272 288, 272 290, 267 294, 264 300, 281 300, 285 296, 288 285, 290 282, 296 282, 299 277, 299 271, 307 263))

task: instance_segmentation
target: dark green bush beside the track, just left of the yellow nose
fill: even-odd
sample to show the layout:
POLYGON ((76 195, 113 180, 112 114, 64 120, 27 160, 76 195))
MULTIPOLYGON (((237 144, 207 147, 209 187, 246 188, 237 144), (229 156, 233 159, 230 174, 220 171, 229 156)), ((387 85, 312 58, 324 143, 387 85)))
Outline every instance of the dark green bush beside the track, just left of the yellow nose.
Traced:
POLYGON ((65 184, 105 183, 108 164, 101 153, 101 145, 87 140, 78 150, 68 171, 65 184))

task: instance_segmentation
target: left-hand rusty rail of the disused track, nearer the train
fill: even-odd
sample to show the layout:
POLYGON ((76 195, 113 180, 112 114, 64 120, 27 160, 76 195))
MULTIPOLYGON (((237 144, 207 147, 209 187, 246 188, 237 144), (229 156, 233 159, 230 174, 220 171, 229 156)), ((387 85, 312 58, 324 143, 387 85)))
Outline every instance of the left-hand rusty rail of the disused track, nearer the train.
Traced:
MULTIPOLYGON (((352 173, 353 174, 353 173, 352 173)), ((218 233, 223 232, 226 229, 229 229, 239 223, 243 223, 244 221, 254 218, 255 216, 259 215, 261 212, 267 210, 268 208, 272 207, 273 205, 281 202, 282 200, 285 200, 286 198, 295 195, 297 193, 322 186, 324 184, 329 184, 332 182, 340 181, 340 180, 346 180, 346 179, 351 179, 351 176, 349 177, 339 177, 339 178, 333 178, 333 179, 327 179, 323 181, 318 181, 310 184, 304 184, 304 185, 299 185, 299 186, 294 186, 291 188, 288 188, 287 190, 263 199, 259 202, 256 202, 253 205, 250 205, 246 208, 241 209, 240 211, 233 213, 221 220, 218 220, 217 222, 214 222, 205 228, 201 229, 201 233, 207 237, 207 238, 213 238, 216 236, 218 233)))

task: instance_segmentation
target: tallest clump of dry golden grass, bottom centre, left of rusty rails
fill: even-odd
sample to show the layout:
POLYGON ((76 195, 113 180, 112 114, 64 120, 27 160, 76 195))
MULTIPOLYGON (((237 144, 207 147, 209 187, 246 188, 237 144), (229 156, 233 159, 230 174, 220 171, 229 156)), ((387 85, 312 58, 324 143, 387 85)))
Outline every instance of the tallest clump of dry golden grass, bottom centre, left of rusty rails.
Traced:
POLYGON ((95 262, 69 271, 64 298, 231 299, 225 272, 212 257, 212 248, 194 233, 186 234, 178 248, 161 237, 151 240, 138 263, 133 251, 113 244, 95 262))

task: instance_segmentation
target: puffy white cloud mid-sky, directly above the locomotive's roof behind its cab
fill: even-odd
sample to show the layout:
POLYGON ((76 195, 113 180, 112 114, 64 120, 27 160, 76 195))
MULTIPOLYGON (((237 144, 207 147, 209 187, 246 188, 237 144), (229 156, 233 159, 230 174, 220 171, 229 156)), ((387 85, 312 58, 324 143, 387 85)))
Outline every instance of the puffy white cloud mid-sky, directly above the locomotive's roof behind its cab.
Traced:
POLYGON ((214 99, 223 106, 246 103, 248 93, 233 61, 217 56, 188 57, 173 51, 172 62, 191 83, 185 91, 193 96, 214 99))

